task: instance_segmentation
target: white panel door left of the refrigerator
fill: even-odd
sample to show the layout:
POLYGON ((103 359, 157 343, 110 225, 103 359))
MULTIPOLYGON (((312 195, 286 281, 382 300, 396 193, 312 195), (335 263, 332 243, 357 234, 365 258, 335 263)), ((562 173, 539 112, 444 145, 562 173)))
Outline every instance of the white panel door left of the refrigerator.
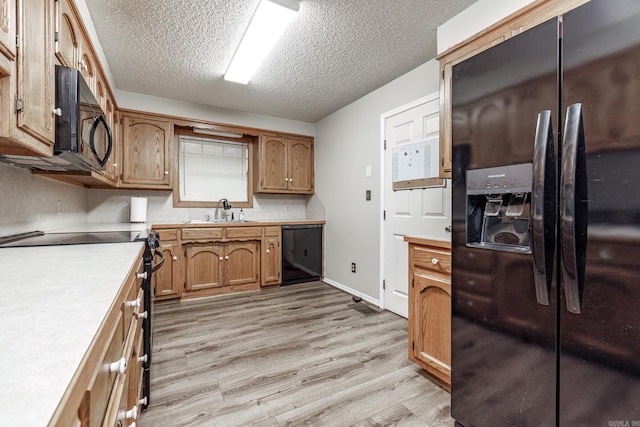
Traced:
MULTIPOLYGON (((409 250, 405 235, 449 240, 445 228, 451 224, 450 187, 393 190, 393 149, 428 138, 438 138, 437 94, 383 115, 384 210, 383 290, 384 308, 408 315, 409 250)), ((435 171, 437 176, 438 171, 435 171)), ((448 183, 447 183, 448 184, 448 183)))

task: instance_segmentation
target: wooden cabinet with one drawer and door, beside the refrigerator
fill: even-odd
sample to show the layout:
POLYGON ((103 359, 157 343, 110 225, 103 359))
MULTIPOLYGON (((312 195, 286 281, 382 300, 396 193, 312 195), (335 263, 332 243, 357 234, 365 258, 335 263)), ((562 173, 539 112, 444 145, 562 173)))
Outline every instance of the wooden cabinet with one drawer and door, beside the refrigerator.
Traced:
POLYGON ((409 242, 409 359, 451 389, 451 245, 409 242))

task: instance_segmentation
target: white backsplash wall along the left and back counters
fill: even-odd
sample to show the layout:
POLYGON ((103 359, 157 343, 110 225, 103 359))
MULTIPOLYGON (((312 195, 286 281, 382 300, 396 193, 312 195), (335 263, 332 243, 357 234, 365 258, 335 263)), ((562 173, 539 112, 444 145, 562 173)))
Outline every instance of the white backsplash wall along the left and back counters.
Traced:
MULTIPOLYGON (((84 223, 129 222, 131 197, 147 198, 147 223, 180 223, 213 217, 213 208, 174 208, 168 191, 86 189, 33 175, 0 163, 0 236, 51 231, 84 223)), ((317 196, 258 194, 253 208, 243 209, 252 221, 321 220, 324 206, 317 196)), ((239 208, 232 208, 237 218, 239 208)))

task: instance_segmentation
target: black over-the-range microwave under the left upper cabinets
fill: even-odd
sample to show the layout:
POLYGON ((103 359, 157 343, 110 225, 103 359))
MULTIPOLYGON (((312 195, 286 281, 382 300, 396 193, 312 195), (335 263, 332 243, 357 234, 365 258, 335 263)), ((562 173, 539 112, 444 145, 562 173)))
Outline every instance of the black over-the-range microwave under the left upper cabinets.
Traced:
POLYGON ((56 66, 55 156, 69 169, 100 171, 109 160, 113 137, 104 112, 80 71, 56 66))

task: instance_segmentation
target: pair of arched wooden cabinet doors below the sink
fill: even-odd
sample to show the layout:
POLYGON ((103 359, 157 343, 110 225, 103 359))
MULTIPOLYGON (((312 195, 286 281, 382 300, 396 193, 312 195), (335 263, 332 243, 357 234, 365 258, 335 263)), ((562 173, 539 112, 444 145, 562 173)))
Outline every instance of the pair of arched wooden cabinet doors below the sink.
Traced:
POLYGON ((259 288, 260 242, 230 242, 185 247, 186 286, 192 295, 202 296, 259 288), (203 291, 194 293, 196 291, 203 291))

